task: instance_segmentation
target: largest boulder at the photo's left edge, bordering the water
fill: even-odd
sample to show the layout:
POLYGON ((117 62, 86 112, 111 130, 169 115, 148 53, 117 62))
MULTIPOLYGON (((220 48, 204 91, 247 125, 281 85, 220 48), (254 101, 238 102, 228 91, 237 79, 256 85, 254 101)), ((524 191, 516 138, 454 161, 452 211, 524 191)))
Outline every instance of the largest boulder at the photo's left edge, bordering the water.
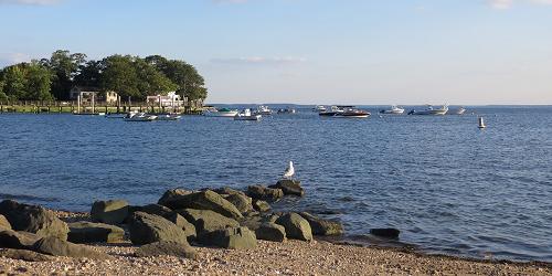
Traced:
POLYGON ((4 215, 15 231, 25 231, 41 236, 56 236, 67 240, 67 224, 42 206, 4 200, 0 203, 0 214, 4 215))

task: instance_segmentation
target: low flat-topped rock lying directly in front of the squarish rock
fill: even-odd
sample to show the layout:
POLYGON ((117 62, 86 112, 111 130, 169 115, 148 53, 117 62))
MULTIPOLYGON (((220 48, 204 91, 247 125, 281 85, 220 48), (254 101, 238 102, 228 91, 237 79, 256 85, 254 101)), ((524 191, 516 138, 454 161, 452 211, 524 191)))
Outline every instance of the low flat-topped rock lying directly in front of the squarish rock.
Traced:
POLYGON ((72 243, 119 243, 125 236, 125 230, 104 223, 74 222, 68 227, 67 241, 72 243))

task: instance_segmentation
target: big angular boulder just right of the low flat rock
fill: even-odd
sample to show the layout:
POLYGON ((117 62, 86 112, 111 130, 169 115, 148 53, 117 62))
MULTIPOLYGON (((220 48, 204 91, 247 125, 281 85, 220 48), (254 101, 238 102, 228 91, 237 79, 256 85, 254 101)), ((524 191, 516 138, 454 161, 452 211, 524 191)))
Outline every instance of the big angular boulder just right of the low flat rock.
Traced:
POLYGON ((136 212, 128 226, 132 244, 148 244, 155 242, 177 242, 187 244, 184 231, 167 219, 136 212))

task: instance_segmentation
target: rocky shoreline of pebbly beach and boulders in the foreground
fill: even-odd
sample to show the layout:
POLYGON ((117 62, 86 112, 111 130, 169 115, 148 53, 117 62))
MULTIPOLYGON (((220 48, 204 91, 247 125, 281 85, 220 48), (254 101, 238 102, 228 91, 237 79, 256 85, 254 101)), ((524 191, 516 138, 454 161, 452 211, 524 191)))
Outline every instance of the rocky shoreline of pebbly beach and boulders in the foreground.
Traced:
MULTIPOLYGON (((481 262, 394 248, 335 244, 338 221, 270 212, 283 197, 302 197, 299 181, 167 191, 157 203, 93 203, 89 213, 0 202, 0 275, 552 275, 544 263, 481 262)), ((371 230, 396 238, 399 230, 371 230)))

